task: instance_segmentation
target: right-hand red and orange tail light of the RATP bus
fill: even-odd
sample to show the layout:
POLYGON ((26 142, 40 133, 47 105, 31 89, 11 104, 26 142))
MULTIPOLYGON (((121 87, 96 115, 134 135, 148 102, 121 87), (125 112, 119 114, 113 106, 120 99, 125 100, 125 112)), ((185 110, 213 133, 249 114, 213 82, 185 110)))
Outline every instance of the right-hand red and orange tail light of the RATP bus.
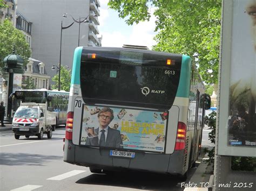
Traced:
POLYGON ((184 150, 186 146, 186 124, 183 122, 178 122, 178 130, 175 144, 175 151, 184 150))

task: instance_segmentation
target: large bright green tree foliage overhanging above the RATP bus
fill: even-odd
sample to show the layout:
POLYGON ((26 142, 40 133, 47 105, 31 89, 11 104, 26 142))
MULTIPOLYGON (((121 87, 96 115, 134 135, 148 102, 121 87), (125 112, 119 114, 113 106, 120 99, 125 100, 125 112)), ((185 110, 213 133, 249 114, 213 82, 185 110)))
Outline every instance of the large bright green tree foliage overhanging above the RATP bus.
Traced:
POLYGON ((149 20, 155 9, 158 44, 153 49, 197 58, 203 81, 218 82, 220 0, 110 0, 108 5, 129 25, 149 20))

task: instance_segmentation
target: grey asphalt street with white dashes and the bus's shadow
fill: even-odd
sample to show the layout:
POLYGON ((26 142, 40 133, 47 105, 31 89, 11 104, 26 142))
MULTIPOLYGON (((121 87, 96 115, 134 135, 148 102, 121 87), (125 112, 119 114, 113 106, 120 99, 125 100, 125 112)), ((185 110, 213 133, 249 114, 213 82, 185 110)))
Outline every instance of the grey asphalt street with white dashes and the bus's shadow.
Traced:
MULTIPOLYGON (((143 172, 93 174, 89 168, 63 161, 64 127, 46 135, 19 140, 0 131, 1 190, 184 190, 175 176, 143 172)), ((153 165, 153 164, 152 164, 153 165)), ((188 182, 199 165, 188 172, 188 182)))

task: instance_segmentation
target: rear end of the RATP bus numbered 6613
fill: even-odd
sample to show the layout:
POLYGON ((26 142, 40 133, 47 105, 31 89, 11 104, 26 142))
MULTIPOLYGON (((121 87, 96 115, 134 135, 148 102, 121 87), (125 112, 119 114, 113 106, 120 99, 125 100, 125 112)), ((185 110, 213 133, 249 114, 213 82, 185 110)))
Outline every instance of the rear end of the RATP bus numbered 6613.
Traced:
POLYGON ((92 172, 133 169, 185 174, 190 72, 191 59, 186 55, 76 48, 64 161, 90 167, 92 172), (99 121, 107 116, 102 110, 113 116, 104 146, 99 121))

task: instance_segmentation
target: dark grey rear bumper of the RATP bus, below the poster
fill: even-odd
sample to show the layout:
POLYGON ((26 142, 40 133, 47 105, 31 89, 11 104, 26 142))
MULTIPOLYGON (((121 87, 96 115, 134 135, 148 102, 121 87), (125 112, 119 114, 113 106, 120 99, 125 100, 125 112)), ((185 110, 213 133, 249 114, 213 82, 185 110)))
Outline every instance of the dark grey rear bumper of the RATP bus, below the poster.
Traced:
POLYGON ((174 151, 172 154, 136 152, 135 158, 119 158, 109 155, 110 149, 76 146, 65 139, 64 161, 80 166, 108 170, 130 169, 183 175, 184 151, 174 151))

